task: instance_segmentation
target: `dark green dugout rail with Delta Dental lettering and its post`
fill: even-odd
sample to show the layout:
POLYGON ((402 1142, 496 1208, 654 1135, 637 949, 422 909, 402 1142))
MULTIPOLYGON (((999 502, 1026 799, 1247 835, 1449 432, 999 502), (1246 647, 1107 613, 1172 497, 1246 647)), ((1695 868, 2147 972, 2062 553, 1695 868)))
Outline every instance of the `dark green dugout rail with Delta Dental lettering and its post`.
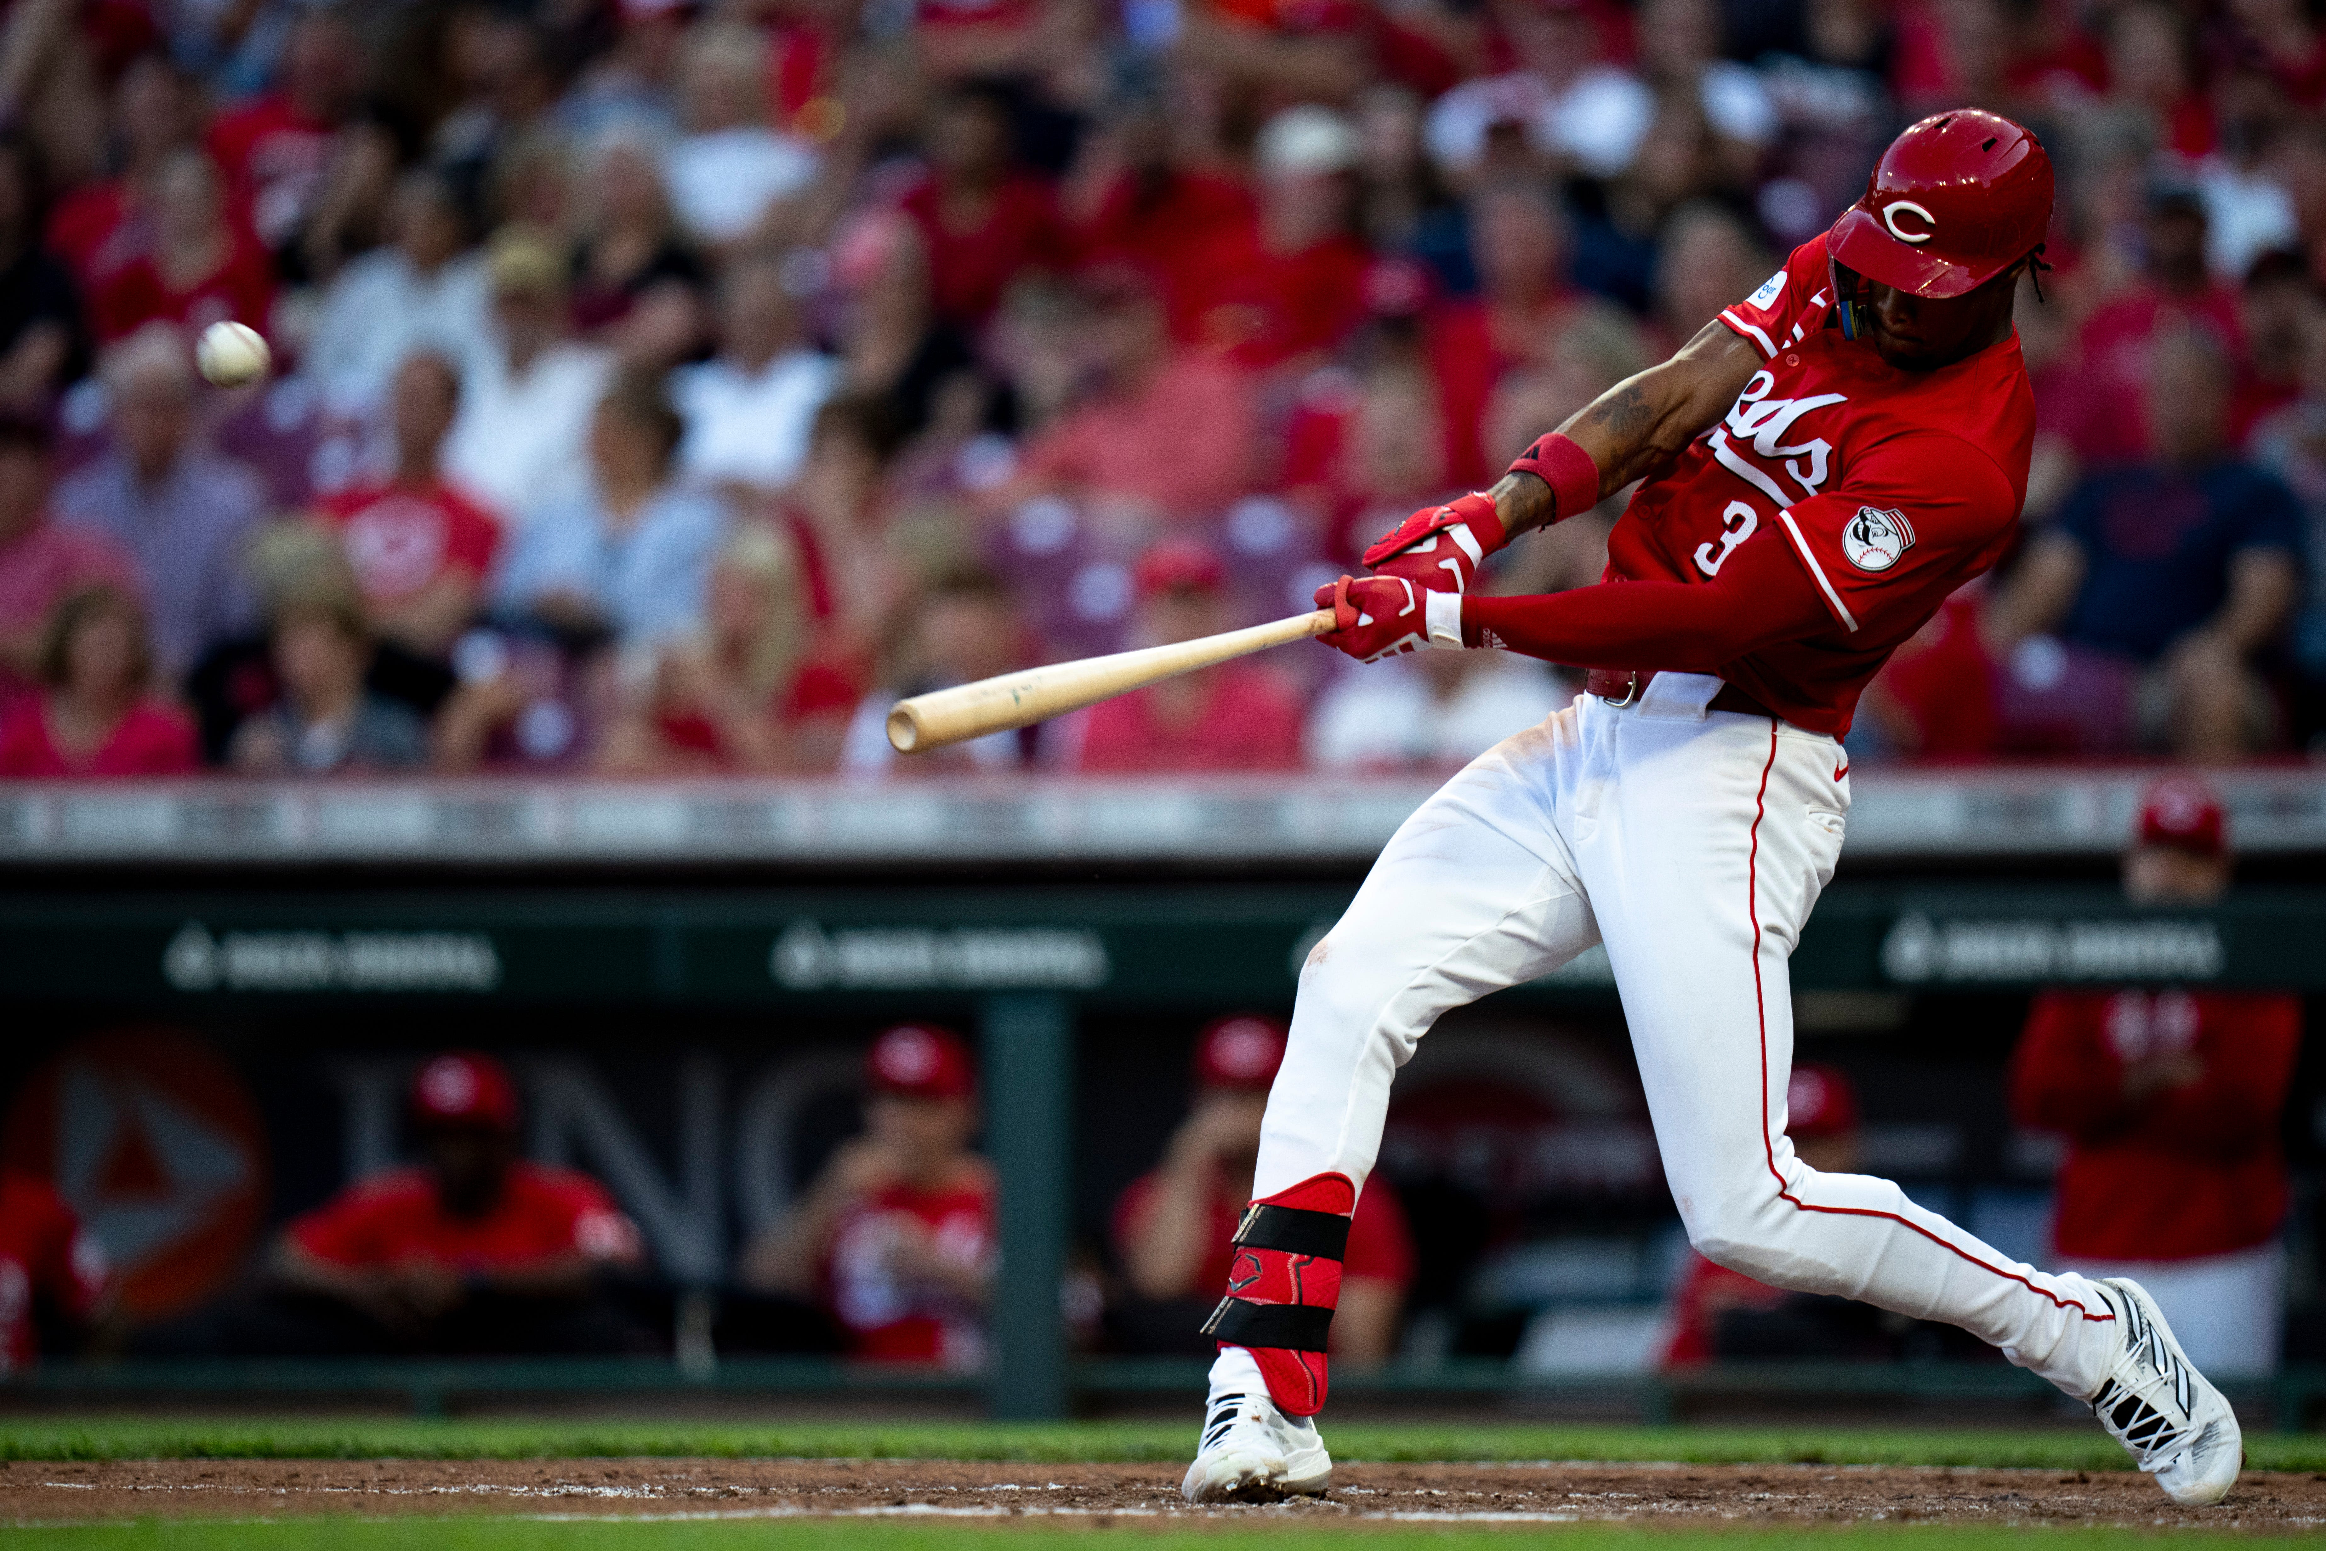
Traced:
MULTIPOLYGON (((414 886, 0 893, 0 1005, 214 1018, 351 1002, 528 1012, 919 1014, 984 1039, 1003 1172, 993 1409, 1068 1405, 1058 1277, 1082 1012, 1289 1005, 1349 884, 828 888, 414 886)), ((1798 995, 2045 984, 2326 991, 2326 891, 2245 888, 2219 909, 2135 912, 2077 884, 1840 881, 1793 958, 1798 995)), ((1614 1000, 1605 956, 1507 993, 1614 1000)))

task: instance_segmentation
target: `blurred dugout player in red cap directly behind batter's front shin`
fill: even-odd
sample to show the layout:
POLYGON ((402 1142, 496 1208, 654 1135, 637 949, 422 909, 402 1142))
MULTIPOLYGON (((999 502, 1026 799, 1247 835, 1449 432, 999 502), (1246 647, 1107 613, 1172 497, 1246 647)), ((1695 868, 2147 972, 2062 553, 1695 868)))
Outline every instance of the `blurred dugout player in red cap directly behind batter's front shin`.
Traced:
MULTIPOLYGON (((1284 1065, 1284 1025, 1237 1014, 1196 1037, 1196 1107, 1163 1160, 1114 1202, 1114 1251, 1128 1298, 1110 1309, 1110 1339, 1130 1351, 1210 1356, 1203 1321, 1228 1286, 1235 1223, 1251 1200, 1268 1086, 1284 1065)), ((1414 1244, 1398 1193, 1375 1174, 1356 1198, 1342 1260, 1333 1356, 1372 1365, 1398 1346, 1414 1281, 1414 1244)))

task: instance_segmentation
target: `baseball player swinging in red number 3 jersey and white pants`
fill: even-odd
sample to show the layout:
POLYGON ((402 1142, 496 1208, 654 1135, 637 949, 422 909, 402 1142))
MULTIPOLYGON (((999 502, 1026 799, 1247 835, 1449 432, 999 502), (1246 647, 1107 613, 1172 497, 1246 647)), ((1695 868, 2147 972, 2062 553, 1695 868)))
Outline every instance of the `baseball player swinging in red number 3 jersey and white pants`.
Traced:
POLYGON ((2126 1279, 2052 1277, 1886 1179, 1786 1142, 1786 958, 1849 814, 1849 730, 1898 642, 2012 542, 2035 402, 2012 330, 2052 160, 1986 112, 1924 119, 1865 198, 1677 356, 1535 442, 1486 495, 1417 512, 1317 593, 1372 663, 1503 646, 1591 670, 1572 707, 1396 832, 1300 972, 1237 1228, 1184 1493, 1317 1493, 1310 1421, 1389 1084, 1437 1014, 1607 946, 1689 1242, 1779 1288, 1993 1342, 2182 1504, 2238 1479, 2238 1418, 2126 1279), (1531 528, 1640 491, 1600 586, 1470 593, 1531 528))

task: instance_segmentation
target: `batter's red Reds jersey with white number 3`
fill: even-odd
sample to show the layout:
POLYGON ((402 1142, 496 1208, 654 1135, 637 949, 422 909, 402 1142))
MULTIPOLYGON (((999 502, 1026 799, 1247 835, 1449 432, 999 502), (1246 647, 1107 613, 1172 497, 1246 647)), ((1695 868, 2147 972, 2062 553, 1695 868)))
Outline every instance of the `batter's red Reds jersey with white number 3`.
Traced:
POLYGON ((1724 663, 1721 679, 1840 737, 1889 653, 2012 542, 2035 437, 2019 337, 1935 372, 1886 365, 1842 337, 1824 237, 1721 323, 1768 365, 1640 486, 1607 579, 1705 584, 1740 544, 1789 546, 1831 628, 1724 663))

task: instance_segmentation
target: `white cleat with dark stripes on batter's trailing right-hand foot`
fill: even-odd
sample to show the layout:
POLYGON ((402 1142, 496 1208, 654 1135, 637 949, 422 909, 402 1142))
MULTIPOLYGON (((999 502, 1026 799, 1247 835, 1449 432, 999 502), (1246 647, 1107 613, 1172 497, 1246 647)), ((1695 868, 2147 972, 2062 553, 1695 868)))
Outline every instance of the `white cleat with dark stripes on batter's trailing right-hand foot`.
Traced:
POLYGON ((2131 1277, 2098 1284, 2117 1307, 2121 1344, 2091 1414, 2182 1507, 2228 1495, 2245 1465, 2238 1414, 2172 1339, 2156 1300, 2131 1277))

